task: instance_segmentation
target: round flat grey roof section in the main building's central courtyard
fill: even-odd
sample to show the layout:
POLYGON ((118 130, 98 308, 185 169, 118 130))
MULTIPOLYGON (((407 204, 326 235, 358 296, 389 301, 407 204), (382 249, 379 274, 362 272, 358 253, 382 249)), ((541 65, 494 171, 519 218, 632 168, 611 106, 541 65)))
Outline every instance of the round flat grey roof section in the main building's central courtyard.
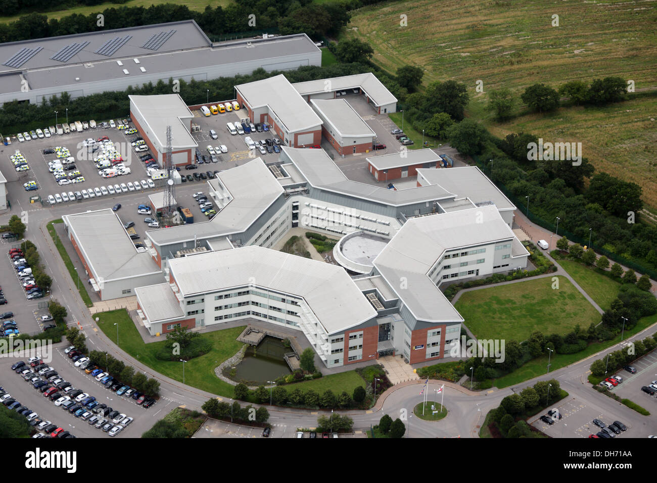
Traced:
POLYGON ((333 248, 333 258, 342 267, 356 273, 370 273, 374 258, 380 254, 390 239, 354 231, 344 235, 333 248))

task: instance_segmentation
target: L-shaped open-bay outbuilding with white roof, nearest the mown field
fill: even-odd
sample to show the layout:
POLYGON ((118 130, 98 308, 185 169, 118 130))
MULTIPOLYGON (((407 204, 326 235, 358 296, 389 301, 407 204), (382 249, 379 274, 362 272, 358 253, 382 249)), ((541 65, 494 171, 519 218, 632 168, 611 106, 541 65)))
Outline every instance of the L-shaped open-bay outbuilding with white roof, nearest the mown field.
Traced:
POLYGON ((375 114, 397 112, 397 98, 371 72, 297 82, 292 84, 292 87, 308 103, 312 99, 336 99, 353 93, 364 95, 375 114))

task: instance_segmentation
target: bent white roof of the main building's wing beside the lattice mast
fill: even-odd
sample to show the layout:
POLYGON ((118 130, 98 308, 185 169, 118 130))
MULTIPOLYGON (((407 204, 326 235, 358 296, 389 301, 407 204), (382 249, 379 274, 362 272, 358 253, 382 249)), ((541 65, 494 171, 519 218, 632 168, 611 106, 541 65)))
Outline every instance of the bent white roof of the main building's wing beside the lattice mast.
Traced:
POLYGON ((215 179, 208 181, 213 189, 221 191, 219 183, 229 191, 231 200, 212 220, 148 231, 148 237, 155 244, 162 245, 191 241, 194 235, 202 239, 242 233, 284 193, 261 158, 217 173, 215 179))

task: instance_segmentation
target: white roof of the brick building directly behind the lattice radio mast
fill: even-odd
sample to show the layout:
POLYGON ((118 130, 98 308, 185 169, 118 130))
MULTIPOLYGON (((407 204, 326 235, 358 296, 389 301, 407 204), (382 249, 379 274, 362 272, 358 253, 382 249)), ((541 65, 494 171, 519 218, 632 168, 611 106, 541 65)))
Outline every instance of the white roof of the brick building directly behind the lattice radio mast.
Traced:
MULTIPOLYGON (((131 107, 144 118, 160 149, 166 149, 166 128, 171 126, 173 150, 195 148, 196 140, 182 119, 194 117, 179 94, 129 95, 131 107)), ((164 152, 164 151, 163 151, 164 152)))

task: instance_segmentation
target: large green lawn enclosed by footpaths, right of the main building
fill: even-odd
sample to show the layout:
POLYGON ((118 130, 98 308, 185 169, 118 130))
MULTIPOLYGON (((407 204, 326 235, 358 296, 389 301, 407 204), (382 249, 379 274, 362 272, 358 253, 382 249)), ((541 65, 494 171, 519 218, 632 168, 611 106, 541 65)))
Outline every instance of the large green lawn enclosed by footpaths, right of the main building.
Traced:
POLYGON ((586 329, 600 314, 564 277, 553 290, 552 277, 464 292, 455 304, 464 325, 476 338, 522 342, 533 331, 566 334, 575 325, 586 329))

